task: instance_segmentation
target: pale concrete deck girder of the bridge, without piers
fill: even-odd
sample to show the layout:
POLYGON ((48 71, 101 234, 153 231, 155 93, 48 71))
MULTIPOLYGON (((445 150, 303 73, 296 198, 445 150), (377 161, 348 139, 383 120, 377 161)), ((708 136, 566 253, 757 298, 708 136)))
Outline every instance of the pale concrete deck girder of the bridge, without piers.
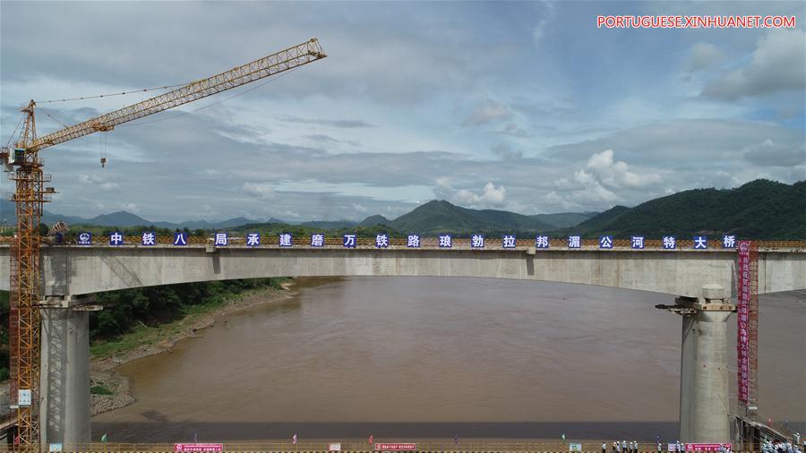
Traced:
MULTIPOLYGON (((735 291, 732 251, 246 249, 126 246, 42 248, 44 295, 209 280, 313 276, 518 278, 697 297, 703 285, 735 291)), ((0 276, 8 247, 0 247, 0 276)), ((8 289, 0 278, 0 289, 8 289)), ((806 251, 760 252, 759 294, 806 288, 806 251)))

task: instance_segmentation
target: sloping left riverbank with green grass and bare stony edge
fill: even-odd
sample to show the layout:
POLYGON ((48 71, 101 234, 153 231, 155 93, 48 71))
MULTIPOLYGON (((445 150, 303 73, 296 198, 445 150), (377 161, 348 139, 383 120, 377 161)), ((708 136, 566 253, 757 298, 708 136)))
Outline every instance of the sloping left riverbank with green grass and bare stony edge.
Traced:
POLYGON ((116 367, 149 355, 171 353, 176 343, 200 335, 201 330, 227 314, 291 297, 295 285, 295 280, 288 280, 281 289, 267 286, 236 295, 224 303, 189 306, 180 320, 157 327, 141 325, 121 338, 90 346, 91 414, 98 415, 134 402, 128 378, 116 372, 116 367))

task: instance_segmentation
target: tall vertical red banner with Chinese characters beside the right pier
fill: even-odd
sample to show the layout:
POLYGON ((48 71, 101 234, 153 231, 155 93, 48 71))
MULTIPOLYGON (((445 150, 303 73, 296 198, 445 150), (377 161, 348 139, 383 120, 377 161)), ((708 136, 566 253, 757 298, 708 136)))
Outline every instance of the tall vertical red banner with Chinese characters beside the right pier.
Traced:
POLYGON ((739 379, 739 402, 747 404, 750 399, 750 342, 747 338, 748 307, 750 305, 750 241, 739 241, 739 275, 736 278, 736 289, 739 302, 736 304, 736 374, 739 379))

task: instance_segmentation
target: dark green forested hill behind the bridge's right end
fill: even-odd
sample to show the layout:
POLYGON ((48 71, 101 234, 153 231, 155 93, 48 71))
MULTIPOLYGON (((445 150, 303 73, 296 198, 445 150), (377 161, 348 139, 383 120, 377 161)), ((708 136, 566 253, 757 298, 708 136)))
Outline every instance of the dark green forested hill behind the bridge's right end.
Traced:
POLYGON ((806 181, 790 185, 758 179, 729 190, 678 192, 634 208, 608 209, 572 229, 587 236, 729 233, 741 238, 806 239, 806 181))

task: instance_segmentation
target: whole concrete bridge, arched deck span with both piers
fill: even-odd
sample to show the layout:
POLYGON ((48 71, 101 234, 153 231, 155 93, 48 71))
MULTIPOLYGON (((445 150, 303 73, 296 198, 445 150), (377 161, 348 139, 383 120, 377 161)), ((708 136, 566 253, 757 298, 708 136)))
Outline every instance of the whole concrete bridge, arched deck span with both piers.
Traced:
MULTIPOLYGON (((216 247, 156 244, 43 245, 43 326, 40 372, 42 442, 90 440, 89 312, 101 291, 234 278, 429 276, 517 278, 613 286, 676 295, 683 315, 681 440, 730 440, 727 323, 735 310, 736 257, 730 249, 643 250, 615 244, 598 249, 536 249, 518 241, 508 249, 473 250, 425 244, 378 249, 324 244, 216 247), (90 308, 88 308, 90 307, 90 308)), ((0 244, 0 275, 9 275, 9 247, 0 244)), ((0 289, 8 290, 7 278, 0 289)), ((759 248, 759 294, 806 288, 806 244, 759 248)))

